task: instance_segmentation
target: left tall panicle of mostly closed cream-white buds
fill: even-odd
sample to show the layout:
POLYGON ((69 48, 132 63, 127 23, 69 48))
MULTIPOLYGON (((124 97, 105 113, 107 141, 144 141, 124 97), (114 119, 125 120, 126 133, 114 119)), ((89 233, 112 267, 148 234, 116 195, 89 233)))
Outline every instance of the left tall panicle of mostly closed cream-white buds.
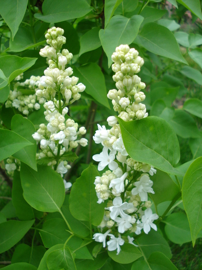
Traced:
MULTIPOLYGON (((37 153, 38 159, 49 157, 48 166, 51 166, 62 177, 70 169, 66 156, 72 149, 79 145, 85 147, 87 139, 78 138, 86 133, 84 127, 78 124, 68 114, 68 105, 80 98, 80 92, 85 90, 85 85, 78 83, 78 78, 72 76, 73 70, 67 67, 72 59, 72 53, 67 49, 60 52, 66 38, 64 30, 52 27, 45 35, 47 43, 39 54, 48 58, 49 67, 40 78, 36 96, 46 99, 44 107, 45 118, 48 124, 40 124, 39 129, 32 136, 39 143, 41 151, 37 153)), ((66 182, 66 188, 69 184, 66 182)))

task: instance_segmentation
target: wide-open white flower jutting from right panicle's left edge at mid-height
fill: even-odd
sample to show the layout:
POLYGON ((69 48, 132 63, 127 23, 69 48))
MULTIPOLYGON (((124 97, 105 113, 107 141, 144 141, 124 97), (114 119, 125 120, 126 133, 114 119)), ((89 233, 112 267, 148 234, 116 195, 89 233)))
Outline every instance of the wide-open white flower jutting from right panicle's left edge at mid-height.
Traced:
POLYGON ((110 170, 114 171, 118 168, 118 164, 114 161, 116 150, 111 150, 108 154, 108 148, 104 147, 103 152, 98 155, 94 155, 93 159, 95 161, 100 161, 98 164, 98 171, 102 171, 106 166, 109 167, 110 170))

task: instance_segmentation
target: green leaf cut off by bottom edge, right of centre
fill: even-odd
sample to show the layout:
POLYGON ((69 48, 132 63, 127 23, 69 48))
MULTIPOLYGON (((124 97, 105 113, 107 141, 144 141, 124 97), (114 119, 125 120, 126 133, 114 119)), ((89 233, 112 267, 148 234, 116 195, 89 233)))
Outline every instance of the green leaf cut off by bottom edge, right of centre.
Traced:
POLYGON ((131 270, 177 270, 174 264, 160 252, 151 254, 147 261, 136 261, 133 263, 131 270))

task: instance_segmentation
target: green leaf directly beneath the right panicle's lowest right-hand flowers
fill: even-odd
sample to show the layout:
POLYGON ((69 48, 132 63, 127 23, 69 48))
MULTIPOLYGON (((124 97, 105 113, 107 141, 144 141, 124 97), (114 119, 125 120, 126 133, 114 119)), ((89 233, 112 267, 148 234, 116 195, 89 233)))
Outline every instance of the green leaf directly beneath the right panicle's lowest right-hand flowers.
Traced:
POLYGON ((158 231, 151 230, 148 235, 144 233, 136 242, 147 258, 156 251, 163 253, 169 259, 172 258, 168 242, 158 231))

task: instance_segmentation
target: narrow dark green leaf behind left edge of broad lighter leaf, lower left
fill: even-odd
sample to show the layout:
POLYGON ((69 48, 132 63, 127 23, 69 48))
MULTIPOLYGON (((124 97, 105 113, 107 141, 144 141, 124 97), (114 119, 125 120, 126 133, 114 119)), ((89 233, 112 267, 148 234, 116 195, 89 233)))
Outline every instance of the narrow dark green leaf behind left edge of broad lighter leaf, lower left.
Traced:
POLYGON ((23 197, 23 188, 21 186, 21 178, 19 172, 15 171, 12 187, 12 202, 15 207, 16 215, 19 220, 33 220, 34 213, 32 207, 25 201, 23 197))

